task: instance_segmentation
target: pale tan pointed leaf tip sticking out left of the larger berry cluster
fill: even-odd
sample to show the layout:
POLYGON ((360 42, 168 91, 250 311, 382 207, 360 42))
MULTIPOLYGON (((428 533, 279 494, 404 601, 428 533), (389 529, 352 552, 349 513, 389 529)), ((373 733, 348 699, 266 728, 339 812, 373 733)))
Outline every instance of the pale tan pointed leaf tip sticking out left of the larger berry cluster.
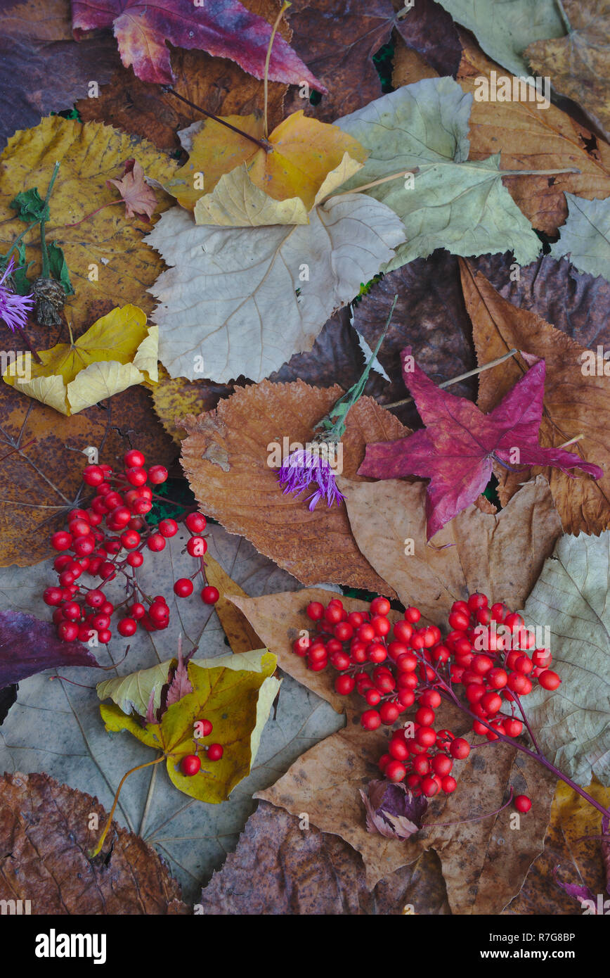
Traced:
MULTIPOLYGON (((326 699, 337 713, 343 713, 346 699, 334 691, 330 671, 312 672, 305 665, 305 659, 292 651, 292 643, 298 639, 299 632, 312 628, 312 620, 305 612, 309 602, 323 601, 327 604, 331 598, 342 600, 348 612, 366 611, 369 607, 366 601, 344 598, 340 592, 322 588, 284 591, 262 598, 236 596, 231 600, 243 612, 265 648, 278 656, 278 665, 283 672, 326 699)), ((397 611, 390 611, 388 617, 390 621, 396 621, 400 615, 397 611)))

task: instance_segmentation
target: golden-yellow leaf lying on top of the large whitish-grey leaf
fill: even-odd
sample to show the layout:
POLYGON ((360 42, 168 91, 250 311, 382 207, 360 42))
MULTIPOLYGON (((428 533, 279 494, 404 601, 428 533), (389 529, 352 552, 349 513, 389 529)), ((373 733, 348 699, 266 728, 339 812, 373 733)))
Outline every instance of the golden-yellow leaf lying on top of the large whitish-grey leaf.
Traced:
MULTIPOLYGON (((227 121, 262 138, 262 123, 254 115, 227 116, 227 121)), ((192 137, 189 161, 165 184, 165 190, 182 206, 194 209, 203 193, 211 198, 221 177, 237 167, 243 169, 240 164, 244 163, 250 183, 266 197, 282 201, 298 198, 307 214, 361 169, 369 156, 353 137, 336 126, 309 118, 303 111, 288 115, 274 129, 268 143, 269 152, 257 149, 254 143, 214 119, 206 119, 192 137)), ((243 178, 239 179, 244 186, 243 178)), ((226 194, 225 188, 223 199, 226 194)), ((258 197, 259 205, 261 200, 258 197)))

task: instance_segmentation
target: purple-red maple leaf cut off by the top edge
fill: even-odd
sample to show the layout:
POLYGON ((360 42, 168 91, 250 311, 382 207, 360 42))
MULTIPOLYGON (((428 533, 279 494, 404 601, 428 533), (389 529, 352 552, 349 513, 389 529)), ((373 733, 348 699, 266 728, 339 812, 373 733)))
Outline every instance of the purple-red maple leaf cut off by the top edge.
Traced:
MULTIPOLYGON (((245 9, 239 0, 72 0, 76 39, 88 30, 113 27, 125 67, 143 81, 171 84, 174 74, 167 42, 197 48, 216 58, 231 58, 255 78, 262 78, 271 25, 245 9)), ((269 78, 292 85, 308 82, 327 92, 280 34, 276 34, 269 78)))

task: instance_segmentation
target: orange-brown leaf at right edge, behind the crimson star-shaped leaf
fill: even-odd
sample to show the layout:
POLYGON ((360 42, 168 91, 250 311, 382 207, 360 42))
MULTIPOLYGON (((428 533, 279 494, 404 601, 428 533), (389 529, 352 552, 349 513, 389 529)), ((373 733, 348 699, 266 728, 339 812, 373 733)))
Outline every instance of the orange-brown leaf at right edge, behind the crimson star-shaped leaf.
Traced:
MULTIPOLYGON (((553 329, 540 316, 518 309, 499 295, 467 262, 460 261, 466 307, 473 325, 479 363, 489 362, 513 347, 546 362, 545 410, 540 428, 543 446, 564 444, 576 435, 585 437, 570 446, 582 459, 605 468, 606 475, 570 478, 557 469, 521 470, 516 474, 498 467, 502 505, 527 481, 530 471, 547 478, 566 533, 600 533, 610 525, 610 449, 604 431, 610 422, 610 395, 604 377, 582 373, 586 350, 565 333, 553 329)), ((592 354, 591 354, 592 355, 592 354)), ((516 380, 528 370, 521 356, 479 378, 479 407, 491 411, 516 380)), ((496 468, 496 467, 495 467, 496 468)))

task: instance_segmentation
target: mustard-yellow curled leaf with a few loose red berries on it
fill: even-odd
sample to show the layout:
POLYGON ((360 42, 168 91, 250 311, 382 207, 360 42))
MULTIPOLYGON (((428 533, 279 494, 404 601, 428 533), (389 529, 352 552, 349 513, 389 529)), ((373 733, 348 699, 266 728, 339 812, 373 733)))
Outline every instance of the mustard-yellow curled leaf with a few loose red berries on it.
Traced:
MULTIPOLYGON (((167 682, 171 663, 164 666, 167 682)), ((256 757, 263 727, 267 722, 280 682, 273 679, 276 657, 269 652, 249 652, 241 656, 221 656, 216 659, 193 659, 188 664, 188 682, 180 684, 182 693, 174 702, 167 699, 159 723, 144 722, 148 710, 144 701, 136 701, 140 716, 128 716, 115 704, 100 707, 102 719, 109 732, 128 731, 148 747, 160 750, 166 759, 167 774, 173 784, 199 801, 219 804, 225 801, 236 784, 250 773, 256 757), (192 691, 187 691, 191 686, 192 691), (207 761, 204 744, 194 733, 197 720, 210 720, 208 743, 221 743, 224 753, 220 760, 207 761), (180 762, 187 754, 200 751, 201 768, 194 777, 185 776, 180 762)), ((152 689, 146 672, 139 674, 138 688, 152 689)), ((152 668, 154 682, 159 683, 160 666, 152 668)), ((114 698, 121 681, 109 680, 98 690, 102 697, 114 698)), ((176 694, 177 695, 177 694, 176 694)))

